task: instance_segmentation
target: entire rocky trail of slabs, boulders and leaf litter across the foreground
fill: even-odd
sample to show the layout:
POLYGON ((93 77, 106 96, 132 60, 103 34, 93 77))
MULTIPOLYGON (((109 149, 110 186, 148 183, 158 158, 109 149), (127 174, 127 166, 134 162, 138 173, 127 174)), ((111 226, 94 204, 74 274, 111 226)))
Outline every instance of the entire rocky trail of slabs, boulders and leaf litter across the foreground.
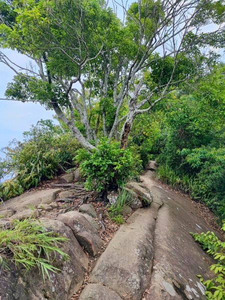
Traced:
POLYGON ((189 232, 212 228, 191 201, 152 178, 153 168, 140 176, 141 183, 127 185, 137 209, 121 226, 108 218, 102 202, 57 201, 69 198, 71 189, 33 190, 1 204, 1 227, 34 215, 70 239, 63 250, 71 260, 56 257, 62 270, 45 282, 36 270, 1 270, 0 300, 206 299, 196 275, 209 278, 212 259, 189 232), (140 195, 151 200, 148 207, 140 207, 140 195), (78 208, 69 211, 69 205, 78 208))

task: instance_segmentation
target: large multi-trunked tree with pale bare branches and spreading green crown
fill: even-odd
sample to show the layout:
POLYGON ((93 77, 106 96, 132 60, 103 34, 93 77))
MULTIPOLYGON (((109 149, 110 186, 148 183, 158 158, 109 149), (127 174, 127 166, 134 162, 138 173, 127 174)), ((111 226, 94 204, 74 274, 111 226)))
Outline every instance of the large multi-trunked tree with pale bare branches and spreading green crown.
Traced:
POLYGON ((103 0, 0 0, 0 45, 27 55, 5 92, 53 108, 82 146, 98 136, 127 145, 138 114, 148 113, 208 62, 200 49, 223 46, 222 0, 137 0, 121 21, 103 0), (203 33, 206 24, 217 29, 203 33), (84 132, 77 127, 84 126, 84 132))

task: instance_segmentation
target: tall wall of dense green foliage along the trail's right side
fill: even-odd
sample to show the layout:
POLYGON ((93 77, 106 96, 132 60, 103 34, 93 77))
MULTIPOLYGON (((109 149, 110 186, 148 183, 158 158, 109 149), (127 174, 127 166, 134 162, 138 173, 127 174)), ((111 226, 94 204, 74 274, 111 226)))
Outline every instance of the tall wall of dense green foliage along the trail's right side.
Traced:
MULTIPOLYGON (((155 142, 158 178, 225 217, 224 64, 165 101, 155 142), (185 93, 189 93, 188 95, 185 93)), ((153 148, 152 148, 153 149, 153 148)))

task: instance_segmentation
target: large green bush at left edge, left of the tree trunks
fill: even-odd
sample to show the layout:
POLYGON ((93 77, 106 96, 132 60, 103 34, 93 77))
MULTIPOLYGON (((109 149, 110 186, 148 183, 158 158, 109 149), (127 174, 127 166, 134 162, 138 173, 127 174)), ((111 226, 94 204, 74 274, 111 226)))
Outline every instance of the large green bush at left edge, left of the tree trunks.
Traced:
POLYGON ((8 199, 50 179, 74 165, 72 158, 78 142, 68 131, 52 121, 39 121, 23 133, 23 142, 14 142, 3 149, 6 158, 0 162, 0 176, 12 179, 0 184, 0 197, 8 199))

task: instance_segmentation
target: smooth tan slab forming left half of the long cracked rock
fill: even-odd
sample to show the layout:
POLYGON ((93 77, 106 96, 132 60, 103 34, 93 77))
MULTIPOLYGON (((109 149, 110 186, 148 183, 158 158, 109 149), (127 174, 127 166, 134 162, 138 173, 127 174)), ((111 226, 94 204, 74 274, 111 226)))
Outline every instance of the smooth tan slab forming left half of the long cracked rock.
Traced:
POLYGON ((98 258, 90 279, 120 297, 141 299, 148 287, 153 258, 155 220, 150 208, 137 209, 115 233, 98 258))

